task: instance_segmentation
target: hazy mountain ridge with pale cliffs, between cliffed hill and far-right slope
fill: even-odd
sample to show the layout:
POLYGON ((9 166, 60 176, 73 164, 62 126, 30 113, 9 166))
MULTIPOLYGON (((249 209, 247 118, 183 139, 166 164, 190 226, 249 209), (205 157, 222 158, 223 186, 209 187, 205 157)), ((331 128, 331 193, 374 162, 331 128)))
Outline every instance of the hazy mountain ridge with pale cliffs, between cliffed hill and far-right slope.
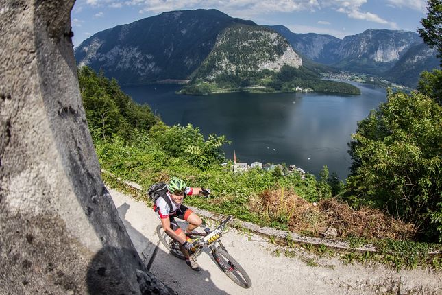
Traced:
POLYGON ((417 33, 389 29, 367 29, 341 40, 330 35, 295 34, 282 25, 269 27, 286 37, 293 49, 315 62, 375 75, 391 69, 410 47, 423 43, 417 33))

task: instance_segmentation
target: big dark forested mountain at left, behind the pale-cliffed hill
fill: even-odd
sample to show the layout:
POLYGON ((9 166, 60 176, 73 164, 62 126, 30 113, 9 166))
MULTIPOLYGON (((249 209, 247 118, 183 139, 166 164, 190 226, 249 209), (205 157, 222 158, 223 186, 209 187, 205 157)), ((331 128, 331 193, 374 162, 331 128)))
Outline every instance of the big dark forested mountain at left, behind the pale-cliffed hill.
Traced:
POLYGON ((187 79, 234 24, 256 25, 219 10, 163 12, 94 34, 75 49, 75 59, 120 84, 187 79))

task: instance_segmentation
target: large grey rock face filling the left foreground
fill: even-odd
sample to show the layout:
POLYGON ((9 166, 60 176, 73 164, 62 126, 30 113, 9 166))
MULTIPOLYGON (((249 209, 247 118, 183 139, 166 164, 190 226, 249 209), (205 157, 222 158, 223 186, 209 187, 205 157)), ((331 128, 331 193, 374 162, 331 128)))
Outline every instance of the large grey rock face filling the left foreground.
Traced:
POLYGON ((73 0, 0 0, 0 294, 169 294, 101 181, 73 0))

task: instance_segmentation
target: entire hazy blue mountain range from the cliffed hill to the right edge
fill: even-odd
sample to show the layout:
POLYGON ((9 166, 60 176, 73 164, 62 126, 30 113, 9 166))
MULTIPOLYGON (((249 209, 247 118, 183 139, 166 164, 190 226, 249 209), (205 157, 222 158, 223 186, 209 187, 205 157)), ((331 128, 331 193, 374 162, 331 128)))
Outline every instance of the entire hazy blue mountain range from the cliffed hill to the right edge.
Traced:
POLYGON ((295 34, 283 25, 267 26, 282 34, 302 56, 345 71, 380 76, 415 87, 421 71, 438 67, 436 50, 415 32, 367 29, 343 40, 330 35, 295 34))

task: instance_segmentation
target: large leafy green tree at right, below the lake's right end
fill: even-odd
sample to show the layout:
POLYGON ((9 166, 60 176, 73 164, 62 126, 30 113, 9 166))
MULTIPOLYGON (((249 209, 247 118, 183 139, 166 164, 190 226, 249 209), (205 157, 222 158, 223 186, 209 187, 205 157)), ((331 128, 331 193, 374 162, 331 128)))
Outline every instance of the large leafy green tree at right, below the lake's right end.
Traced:
POLYGON ((358 123, 349 146, 347 200, 385 208, 441 240, 441 106, 419 93, 389 93, 358 123))

